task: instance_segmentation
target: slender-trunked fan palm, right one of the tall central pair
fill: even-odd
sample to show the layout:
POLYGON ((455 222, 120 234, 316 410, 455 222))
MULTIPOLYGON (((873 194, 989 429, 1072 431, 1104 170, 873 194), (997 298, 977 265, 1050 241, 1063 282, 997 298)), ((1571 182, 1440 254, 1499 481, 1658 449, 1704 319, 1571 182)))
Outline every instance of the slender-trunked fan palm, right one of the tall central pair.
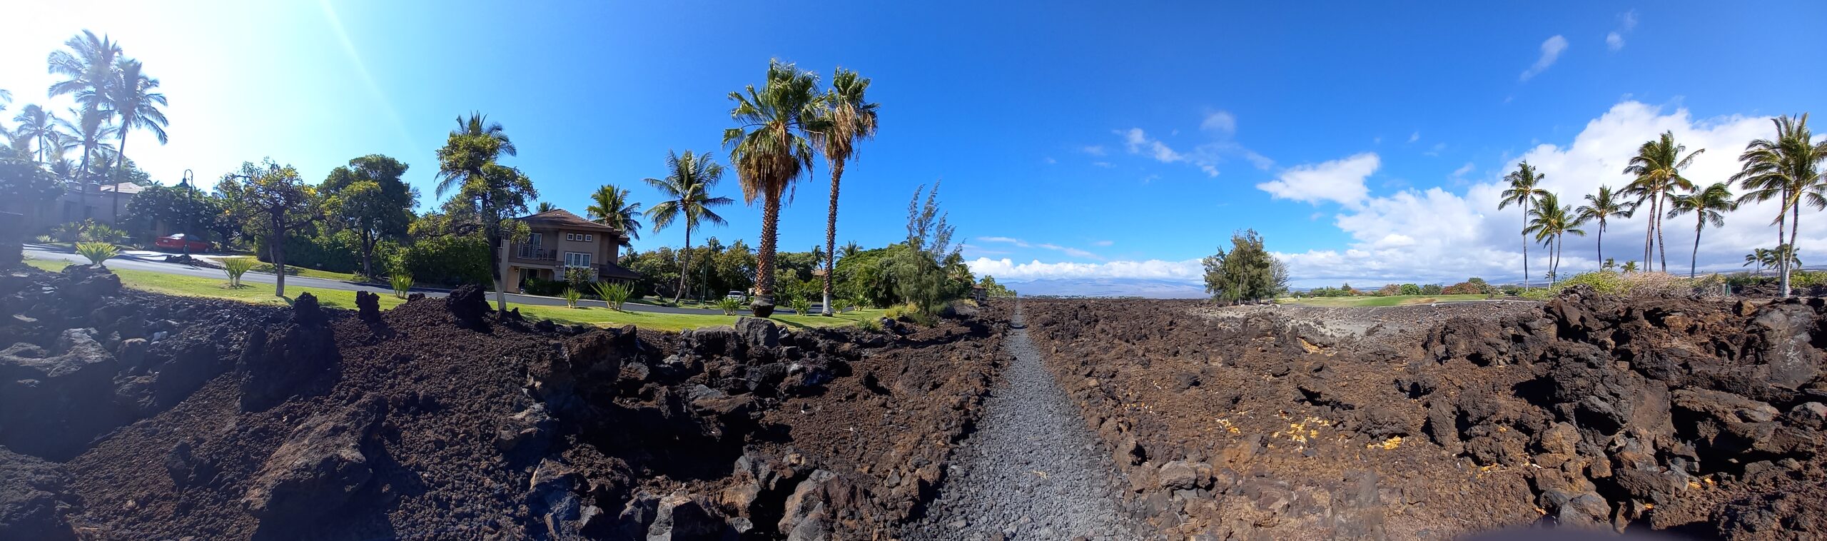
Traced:
MULTIPOLYGON (((822 124, 824 130, 813 132, 813 144, 824 152, 826 163, 831 164, 831 208, 824 217, 824 250, 837 250, 837 186, 844 177, 844 163, 855 157, 857 141, 875 137, 875 110, 877 104, 870 102, 864 93, 870 90, 870 79, 859 77, 857 71, 837 68, 831 75, 831 90, 826 93, 822 124)), ((831 314, 831 274, 835 261, 826 258, 824 261, 824 305, 822 314, 831 314)))

